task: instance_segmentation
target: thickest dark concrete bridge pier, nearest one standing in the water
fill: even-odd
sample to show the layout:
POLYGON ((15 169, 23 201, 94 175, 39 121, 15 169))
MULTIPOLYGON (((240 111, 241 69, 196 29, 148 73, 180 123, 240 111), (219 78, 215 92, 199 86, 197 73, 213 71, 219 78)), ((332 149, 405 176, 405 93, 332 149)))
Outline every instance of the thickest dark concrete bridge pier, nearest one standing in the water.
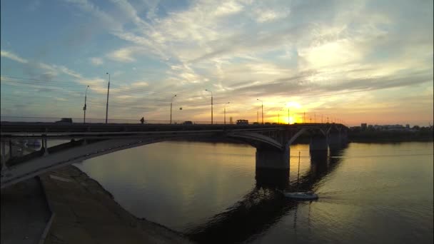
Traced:
POLYGON ((283 151, 271 148, 256 148, 256 168, 289 169, 289 147, 283 151))

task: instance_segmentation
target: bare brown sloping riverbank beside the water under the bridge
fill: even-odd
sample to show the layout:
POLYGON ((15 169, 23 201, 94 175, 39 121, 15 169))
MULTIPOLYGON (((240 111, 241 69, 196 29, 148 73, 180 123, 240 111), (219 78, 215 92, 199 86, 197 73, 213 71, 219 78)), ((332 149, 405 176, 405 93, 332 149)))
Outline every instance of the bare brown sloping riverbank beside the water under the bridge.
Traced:
POLYGON ((128 213, 75 166, 45 173, 41 183, 56 214, 47 244, 192 243, 181 233, 128 213))

